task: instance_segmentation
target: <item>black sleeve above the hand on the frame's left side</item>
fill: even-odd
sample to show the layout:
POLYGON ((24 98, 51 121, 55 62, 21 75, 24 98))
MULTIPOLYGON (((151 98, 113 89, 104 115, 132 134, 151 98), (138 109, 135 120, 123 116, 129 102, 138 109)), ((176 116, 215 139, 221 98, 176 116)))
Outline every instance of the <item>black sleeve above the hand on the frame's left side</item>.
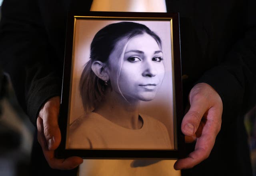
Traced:
POLYGON ((0 46, 3 70, 10 76, 20 105, 36 126, 42 104, 60 95, 62 73, 36 0, 4 0, 0 46))

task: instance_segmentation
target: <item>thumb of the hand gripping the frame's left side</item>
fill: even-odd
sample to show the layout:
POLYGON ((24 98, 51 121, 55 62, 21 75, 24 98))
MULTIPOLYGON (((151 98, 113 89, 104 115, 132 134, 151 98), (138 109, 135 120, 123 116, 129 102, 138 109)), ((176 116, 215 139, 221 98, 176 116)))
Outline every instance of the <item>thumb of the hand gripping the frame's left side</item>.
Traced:
POLYGON ((44 104, 39 113, 40 118, 42 118, 44 138, 48 145, 48 150, 55 150, 60 145, 61 134, 58 126, 59 108, 60 98, 54 97, 44 104))

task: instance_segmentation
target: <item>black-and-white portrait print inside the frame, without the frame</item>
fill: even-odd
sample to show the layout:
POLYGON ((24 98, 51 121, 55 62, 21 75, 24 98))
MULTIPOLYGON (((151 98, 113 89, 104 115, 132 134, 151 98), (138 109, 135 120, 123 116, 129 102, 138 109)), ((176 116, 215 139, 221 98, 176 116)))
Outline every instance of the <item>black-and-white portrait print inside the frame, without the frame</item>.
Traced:
POLYGON ((66 148, 174 149, 170 27, 76 20, 66 148))

